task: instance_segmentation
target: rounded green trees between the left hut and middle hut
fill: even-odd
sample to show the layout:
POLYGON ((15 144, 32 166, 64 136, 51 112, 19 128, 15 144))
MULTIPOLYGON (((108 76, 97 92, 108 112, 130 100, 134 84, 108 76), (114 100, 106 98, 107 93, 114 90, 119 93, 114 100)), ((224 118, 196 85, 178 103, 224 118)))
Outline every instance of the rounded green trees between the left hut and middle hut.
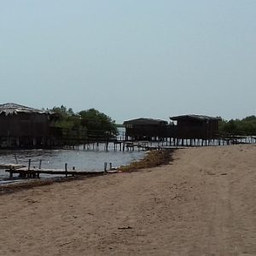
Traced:
POLYGON ((118 134, 115 121, 94 108, 73 113, 64 106, 52 109, 54 126, 61 131, 63 139, 79 141, 108 140, 118 134))

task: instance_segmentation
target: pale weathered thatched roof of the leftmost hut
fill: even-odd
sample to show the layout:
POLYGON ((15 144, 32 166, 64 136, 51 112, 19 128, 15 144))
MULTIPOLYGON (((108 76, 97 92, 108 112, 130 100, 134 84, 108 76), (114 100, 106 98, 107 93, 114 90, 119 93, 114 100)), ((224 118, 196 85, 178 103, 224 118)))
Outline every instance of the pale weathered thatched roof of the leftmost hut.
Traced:
POLYGON ((0 104, 0 114, 5 115, 17 114, 17 113, 49 113, 49 111, 39 110, 35 108, 29 108, 15 103, 0 104))

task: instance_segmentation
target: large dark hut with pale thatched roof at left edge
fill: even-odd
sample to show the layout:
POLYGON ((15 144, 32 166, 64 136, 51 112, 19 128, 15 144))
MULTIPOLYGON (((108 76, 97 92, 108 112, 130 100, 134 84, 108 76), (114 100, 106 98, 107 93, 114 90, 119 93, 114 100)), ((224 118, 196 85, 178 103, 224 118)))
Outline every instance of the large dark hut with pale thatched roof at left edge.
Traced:
POLYGON ((7 103, 0 105, 0 147, 42 147, 49 142, 50 113, 7 103))

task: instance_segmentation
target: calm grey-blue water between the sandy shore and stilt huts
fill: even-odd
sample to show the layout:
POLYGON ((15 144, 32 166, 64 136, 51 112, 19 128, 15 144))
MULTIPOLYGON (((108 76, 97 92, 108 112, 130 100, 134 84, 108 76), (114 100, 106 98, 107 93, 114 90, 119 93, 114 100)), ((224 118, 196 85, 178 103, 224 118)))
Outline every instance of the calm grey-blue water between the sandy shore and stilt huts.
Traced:
MULTIPOLYGON (((103 148, 100 150, 88 150, 79 148, 79 150, 0 150, 0 163, 15 164, 16 160, 20 165, 28 166, 28 160, 32 160, 31 166, 38 167, 42 160, 42 168, 64 169, 67 163, 67 169, 101 172, 104 170, 104 162, 112 163, 113 167, 118 167, 131 163, 134 160, 143 158, 145 152, 141 151, 114 151, 113 145, 109 144, 108 152, 103 148)), ((47 175, 42 177, 49 177, 47 175)), ((52 177, 52 176, 50 176, 52 177)), ((17 180, 18 177, 16 177, 17 180)), ((0 183, 9 182, 9 173, 0 170, 0 183)))

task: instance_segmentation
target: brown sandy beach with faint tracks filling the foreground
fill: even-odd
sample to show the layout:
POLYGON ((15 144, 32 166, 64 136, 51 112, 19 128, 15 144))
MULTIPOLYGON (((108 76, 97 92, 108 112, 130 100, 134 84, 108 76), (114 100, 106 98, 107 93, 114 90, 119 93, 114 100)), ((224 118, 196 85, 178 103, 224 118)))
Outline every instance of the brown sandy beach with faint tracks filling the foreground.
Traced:
POLYGON ((256 145, 0 196, 0 255, 256 255, 256 145))

